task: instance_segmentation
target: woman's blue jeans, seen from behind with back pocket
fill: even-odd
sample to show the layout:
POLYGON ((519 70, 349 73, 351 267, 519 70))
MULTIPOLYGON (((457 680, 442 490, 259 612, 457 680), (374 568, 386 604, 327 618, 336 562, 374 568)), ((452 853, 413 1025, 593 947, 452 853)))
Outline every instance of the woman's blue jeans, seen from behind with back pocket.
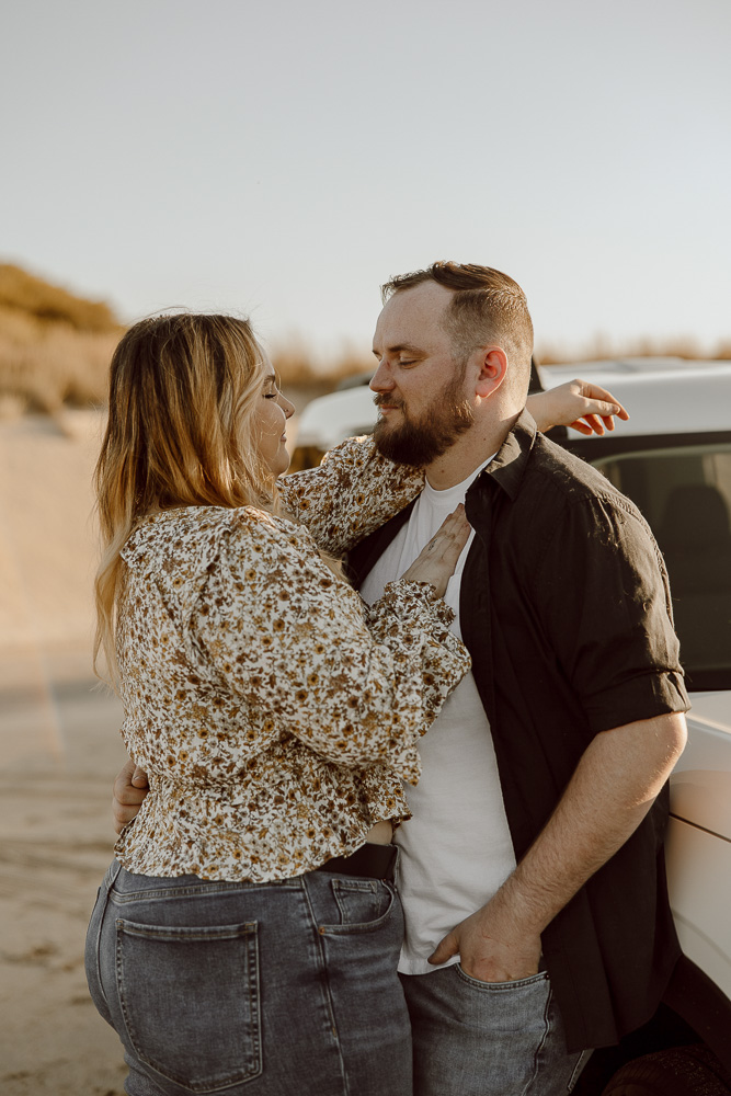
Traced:
POLYGON ((87 935, 96 1008, 129 1096, 411 1096, 393 886, 132 875, 116 861, 87 935))

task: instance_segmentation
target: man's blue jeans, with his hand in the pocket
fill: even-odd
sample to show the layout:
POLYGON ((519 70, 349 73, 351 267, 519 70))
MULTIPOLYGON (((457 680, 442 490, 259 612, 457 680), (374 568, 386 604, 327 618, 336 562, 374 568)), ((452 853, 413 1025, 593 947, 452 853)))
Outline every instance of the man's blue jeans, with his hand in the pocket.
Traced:
POLYGON ((567 1053, 546 971, 479 982, 457 963, 401 981, 414 1096, 566 1096, 589 1060, 567 1053))

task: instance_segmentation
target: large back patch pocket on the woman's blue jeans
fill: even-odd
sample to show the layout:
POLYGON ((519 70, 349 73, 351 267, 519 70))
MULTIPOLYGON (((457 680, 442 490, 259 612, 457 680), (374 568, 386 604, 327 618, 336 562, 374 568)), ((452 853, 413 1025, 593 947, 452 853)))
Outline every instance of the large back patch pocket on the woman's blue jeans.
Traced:
POLYGON ((262 1072, 256 932, 255 922, 116 922, 117 989, 129 1040, 142 1062, 192 1093, 262 1072))

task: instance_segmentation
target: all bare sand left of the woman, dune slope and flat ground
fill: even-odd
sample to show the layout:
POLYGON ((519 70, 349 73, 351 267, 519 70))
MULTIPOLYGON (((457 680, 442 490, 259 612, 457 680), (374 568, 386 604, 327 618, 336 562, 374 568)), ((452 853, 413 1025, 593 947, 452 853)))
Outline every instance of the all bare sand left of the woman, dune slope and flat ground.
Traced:
POLYGON ((100 432, 91 412, 0 422, 1 1096, 124 1093, 83 971, 125 756, 91 670, 100 432))

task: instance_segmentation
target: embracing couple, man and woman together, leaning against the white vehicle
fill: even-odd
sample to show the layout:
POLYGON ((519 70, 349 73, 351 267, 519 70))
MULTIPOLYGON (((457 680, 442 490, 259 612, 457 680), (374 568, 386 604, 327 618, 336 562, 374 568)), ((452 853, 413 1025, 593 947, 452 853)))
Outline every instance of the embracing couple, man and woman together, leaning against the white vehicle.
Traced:
POLYGON ((374 437, 283 479, 245 321, 146 320, 113 358, 98 642, 133 761, 87 971, 130 1096, 567 1093, 679 955, 667 576, 541 433, 626 412, 526 399, 499 271, 384 299, 374 437))

